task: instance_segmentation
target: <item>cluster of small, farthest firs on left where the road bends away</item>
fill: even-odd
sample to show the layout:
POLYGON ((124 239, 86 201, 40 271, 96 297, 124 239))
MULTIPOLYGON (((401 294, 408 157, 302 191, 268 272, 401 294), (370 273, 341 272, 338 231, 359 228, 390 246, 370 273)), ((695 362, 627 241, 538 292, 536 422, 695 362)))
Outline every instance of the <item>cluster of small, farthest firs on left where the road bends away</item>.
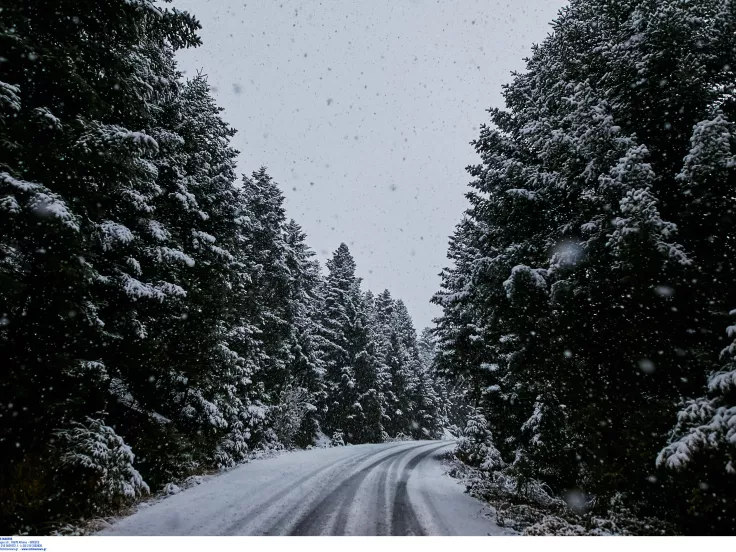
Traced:
POLYGON ((341 431, 350 442, 437 436, 442 407, 433 357, 422 363, 406 307, 387 290, 375 298, 361 293, 345 244, 327 268, 318 340, 327 382, 326 430, 341 431))

